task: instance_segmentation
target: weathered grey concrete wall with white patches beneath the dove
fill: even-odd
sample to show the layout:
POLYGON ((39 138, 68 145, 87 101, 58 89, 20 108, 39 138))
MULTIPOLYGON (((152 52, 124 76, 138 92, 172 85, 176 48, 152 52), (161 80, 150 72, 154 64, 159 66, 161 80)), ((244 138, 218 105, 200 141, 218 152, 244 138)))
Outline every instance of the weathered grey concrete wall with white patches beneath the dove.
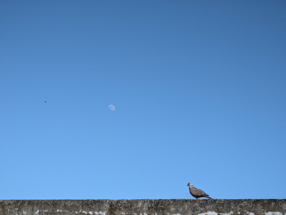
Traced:
POLYGON ((0 215, 286 215, 286 199, 0 200, 0 215))

